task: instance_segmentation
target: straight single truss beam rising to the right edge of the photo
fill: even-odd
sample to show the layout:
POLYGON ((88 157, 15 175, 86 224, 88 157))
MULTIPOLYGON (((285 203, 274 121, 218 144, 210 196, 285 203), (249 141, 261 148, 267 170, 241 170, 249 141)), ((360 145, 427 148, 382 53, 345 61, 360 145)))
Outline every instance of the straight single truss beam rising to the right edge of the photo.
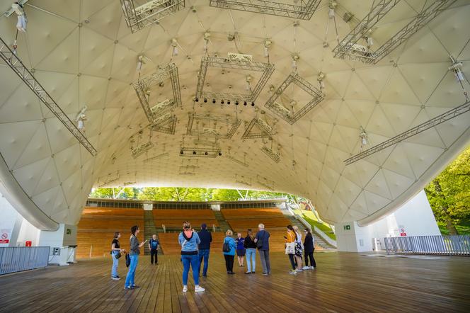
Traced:
POLYGON ((446 122, 447 120, 450 120, 452 118, 455 118, 459 115, 462 115, 466 112, 470 111, 470 101, 467 101, 466 103, 462 104, 461 106, 457 106, 457 108, 453 108, 452 110, 448 110, 445 113, 442 113, 441 115, 436 116, 435 118, 432 118, 425 123, 422 123, 420 125, 417 125, 409 130, 406 130, 406 132, 402 132, 400 135, 396 135, 395 137, 390 138, 389 140, 386 140, 380 144, 377 144, 376 146, 369 148, 360 154, 356 154, 353 157, 350 157, 349 159, 345 160, 345 164, 349 165, 354 163, 355 161, 359 161, 360 159, 364 159, 365 157, 369 157, 369 155, 374 154, 376 152, 379 152, 383 149, 386 149, 390 146, 393 146, 394 144, 398 144, 399 142, 402 142, 403 140, 407 140, 409 137, 413 137, 414 135, 418 135, 420 132, 424 132, 425 130, 429 130, 432 127, 435 127, 441 123, 446 122))

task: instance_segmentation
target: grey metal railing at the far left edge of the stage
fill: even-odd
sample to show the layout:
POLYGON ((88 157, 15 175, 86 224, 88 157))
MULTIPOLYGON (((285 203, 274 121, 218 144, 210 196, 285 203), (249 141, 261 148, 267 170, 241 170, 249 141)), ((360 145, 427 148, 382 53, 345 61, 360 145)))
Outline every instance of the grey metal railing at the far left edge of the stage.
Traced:
POLYGON ((0 275, 45 268, 49 246, 6 246, 0 248, 0 275))

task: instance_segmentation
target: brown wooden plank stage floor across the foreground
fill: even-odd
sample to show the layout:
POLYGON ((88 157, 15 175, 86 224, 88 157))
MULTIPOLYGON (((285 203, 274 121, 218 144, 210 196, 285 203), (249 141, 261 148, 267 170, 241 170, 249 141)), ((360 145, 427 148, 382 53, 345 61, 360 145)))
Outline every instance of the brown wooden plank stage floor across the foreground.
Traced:
MULTIPOLYGON (((0 277, 0 312, 470 312, 470 258, 367 257, 318 253, 318 269, 287 273, 271 254, 272 275, 227 275, 222 255, 210 257, 195 294, 182 292, 179 256, 139 258, 136 290, 110 279, 110 258, 81 260, 0 277)), ((236 261, 235 261, 236 262, 236 261)), ((237 262, 236 262, 237 263, 237 262)), ((126 268, 120 262, 120 275, 126 268)))

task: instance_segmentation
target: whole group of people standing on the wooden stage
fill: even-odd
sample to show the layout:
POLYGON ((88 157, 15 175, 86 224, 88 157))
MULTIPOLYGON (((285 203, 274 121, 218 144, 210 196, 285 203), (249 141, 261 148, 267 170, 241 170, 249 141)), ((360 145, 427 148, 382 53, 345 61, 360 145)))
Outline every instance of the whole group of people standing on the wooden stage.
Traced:
MULTIPOLYGON (((139 242, 137 234, 140 229, 137 225, 131 227, 130 237, 130 251, 127 254, 124 249, 120 248, 119 239, 121 234, 115 233, 113 242, 111 244, 111 255, 113 256, 113 268, 111 271, 111 278, 119 280, 117 274, 117 265, 122 253, 127 258, 127 265, 129 271, 126 276, 124 289, 132 290, 138 288, 134 283, 135 271, 139 263, 140 248, 147 242, 139 242)), ((292 270, 290 273, 298 273, 306 269, 316 268, 314 258, 314 239, 309 229, 305 229, 305 238, 302 243, 302 234, 299 232, 299 227, 288 225, 287 234, 285 238, 285 254, 289 256, 290 266, 292 270), (305 266, 302 267, 302 256, 305 256, 305 266), (310 266, 309 266, 310 261, 310 266)), ((264 224, 258 225, 258 232, 253 234, 252 229, 248 229, 246 237, 242 237, 241 233, 237 234, 236 239, 233 237, 233 232, 229 229, 224 238, 222 250, 225 258, 225 267, 227 274, 234 274, 234 258, 235 254, 238 258, 239 266, 243 267, 244 258, 246 256, 246 272, 245 274, 256 273, 256 250, 261 260, 263 268, 263 275, 270 275, 271 265, 269 258, 269 238, 270 233, 265 230, 264 224)), ((207 225, 201 224, 200 232, 195 232, 191 227, 190 222, 183 222, 183 231, 178 235, 178 242, 181 246, 181 262, 183 263, 183 292, 188 291, 188 275, 190 268, 193 269, 193 280, 195 285, 195 292, 202 292, 205 288, 199 285, 200 268, 202 263, 202 276, 207 277, 207 268, 209 265, 210 244, 212 243, 212 234, 207 231, 207 225)), ((149 241, 149 249, 151 255, 151 263, 158 264, 158 249, 159 241, 156 234, 152 236, 149 241)))

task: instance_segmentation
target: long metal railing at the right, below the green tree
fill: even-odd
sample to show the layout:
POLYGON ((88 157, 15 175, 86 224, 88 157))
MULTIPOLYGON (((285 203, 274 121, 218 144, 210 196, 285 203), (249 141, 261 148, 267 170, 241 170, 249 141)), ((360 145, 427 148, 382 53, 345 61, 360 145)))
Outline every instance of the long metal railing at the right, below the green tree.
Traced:
POLYGON ((470 236, 416 236, 384 238, 386 254, 470 256, 470 236))

